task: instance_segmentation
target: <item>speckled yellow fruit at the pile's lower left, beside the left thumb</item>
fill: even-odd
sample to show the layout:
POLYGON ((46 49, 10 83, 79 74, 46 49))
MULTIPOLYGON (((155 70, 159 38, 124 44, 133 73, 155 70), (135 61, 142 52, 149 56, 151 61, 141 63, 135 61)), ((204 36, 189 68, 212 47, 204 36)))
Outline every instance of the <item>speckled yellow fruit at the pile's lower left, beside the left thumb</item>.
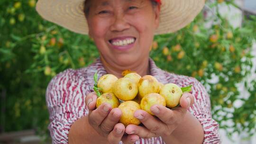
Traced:
POLYGON ((108 103, 112 108, 118 108, 120 105, 119 99, 113 93, 103 93, 96 102, 96 108, 100 107, 101 104, 108 103))

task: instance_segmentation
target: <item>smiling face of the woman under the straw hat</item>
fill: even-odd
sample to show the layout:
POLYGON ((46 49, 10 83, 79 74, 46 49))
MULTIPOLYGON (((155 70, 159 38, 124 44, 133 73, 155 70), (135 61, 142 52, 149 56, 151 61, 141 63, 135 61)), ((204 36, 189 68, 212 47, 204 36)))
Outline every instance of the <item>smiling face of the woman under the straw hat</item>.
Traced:
POLYGON ((160 8, 151 0, 90 0, 89 35, 108 64, 128 66, 149 57, 160 8))

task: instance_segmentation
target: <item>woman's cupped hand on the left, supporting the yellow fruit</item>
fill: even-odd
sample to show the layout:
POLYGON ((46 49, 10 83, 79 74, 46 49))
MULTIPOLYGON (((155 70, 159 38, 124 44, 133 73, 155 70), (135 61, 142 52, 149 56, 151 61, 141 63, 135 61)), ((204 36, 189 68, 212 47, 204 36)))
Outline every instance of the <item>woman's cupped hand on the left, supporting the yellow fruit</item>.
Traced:
POLYGON ((124 135, 125 126, 119 123, 122 111, 119 108, 111 108, 108 103, 101 104, 96 108, 97 95, 95 92, 89 93, 85 98, 85 103, 89 109, 88 119, 90 125, 105 137, 110 144, 119 144, 122 140, 124 144, 133 144, 138 135, 124 135))

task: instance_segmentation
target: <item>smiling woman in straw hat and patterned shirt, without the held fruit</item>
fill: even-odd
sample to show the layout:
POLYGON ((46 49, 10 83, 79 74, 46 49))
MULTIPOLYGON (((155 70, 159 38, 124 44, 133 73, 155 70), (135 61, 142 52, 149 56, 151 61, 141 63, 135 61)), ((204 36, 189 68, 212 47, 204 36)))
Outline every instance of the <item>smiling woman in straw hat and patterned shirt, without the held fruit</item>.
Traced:
MULTIPOLYGON (((79 70, 68 69, 49 83, 49 130, 56 144, 217 144, 218 124, 211 118, 209 96, 194 78, 157 68, 149 58, 155 34, 174 32, 201 11, 204 0, 39 0, 37 11, 71 31, 88 34, 100 58, 79 70), (150 74, 162 83, 193 84, 175 110, 155 105, 152 117, 137 110, 144 126, 119 123, 121 110, 95 108, 93 74, 121 77, 124 70, 150 74)), ((171 66, 171 65, 170 65, 171 66)))

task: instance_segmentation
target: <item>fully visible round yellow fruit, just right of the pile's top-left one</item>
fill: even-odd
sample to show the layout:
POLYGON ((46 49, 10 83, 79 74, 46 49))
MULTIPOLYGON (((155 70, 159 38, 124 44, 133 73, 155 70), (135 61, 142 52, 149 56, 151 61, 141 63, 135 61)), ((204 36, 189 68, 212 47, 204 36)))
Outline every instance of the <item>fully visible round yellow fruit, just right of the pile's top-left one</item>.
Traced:
POLYGON ((138 93, 138 85, 129 78, 120 78, 113 86, 114 94, 123 101, 132 100, 138 93))

